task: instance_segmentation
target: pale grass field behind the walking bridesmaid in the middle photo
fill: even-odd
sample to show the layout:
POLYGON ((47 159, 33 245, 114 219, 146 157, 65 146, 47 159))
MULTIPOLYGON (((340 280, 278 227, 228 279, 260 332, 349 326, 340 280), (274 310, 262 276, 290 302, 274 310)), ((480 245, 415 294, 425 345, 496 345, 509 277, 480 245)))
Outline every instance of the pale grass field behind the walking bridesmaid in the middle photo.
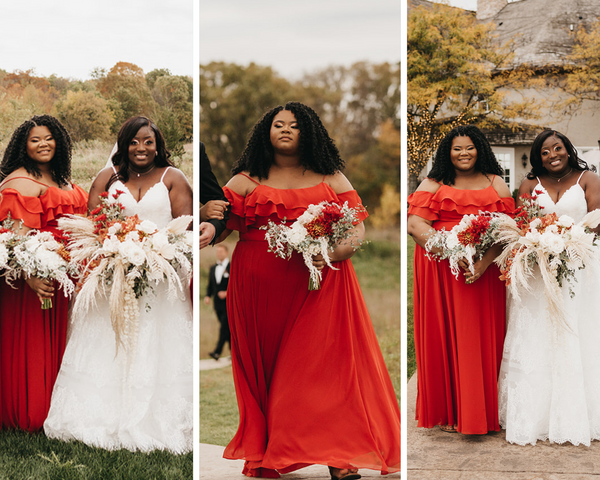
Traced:
MULTIPOLYGON (((400 399, 400 236, 397 232, 368 230, 370 243, 352 257, 375 333, 396 396, 400 399)), ((230 252, 235 239, 226 241, 230 252)), ((214 263, 212 249, 200 252, 200 297, 206 291, 208 268, 214 263)), ((219 325, 212 309, 200 306, 200 358, 209 358, 217 341, 219 325)), ((227 352, 228 353, 228 352, 227 352)), ((225 352, 224 352, 225 354, 225 352)), ((238 426, 238 411, 231 368, 200 373, 200 442, 227 445, 238 426)))

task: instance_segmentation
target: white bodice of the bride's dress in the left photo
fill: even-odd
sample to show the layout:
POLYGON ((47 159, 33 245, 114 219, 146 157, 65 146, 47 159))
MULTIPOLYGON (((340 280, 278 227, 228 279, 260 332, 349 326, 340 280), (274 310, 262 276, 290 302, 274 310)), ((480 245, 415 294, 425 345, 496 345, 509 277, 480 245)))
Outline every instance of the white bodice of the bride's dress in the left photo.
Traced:
POLYGON ((117 190, 123 192, 119 196, 119 202, 125 207, 124 213, 128 217, 137 214, 141 220, 150 220, 158 228, 165 227, 173 220, 169 190, 162 181, 162 178, 148 189, 139 202, 121 180, 114 182, 108 189, 108 193, 113 194, 117 190))

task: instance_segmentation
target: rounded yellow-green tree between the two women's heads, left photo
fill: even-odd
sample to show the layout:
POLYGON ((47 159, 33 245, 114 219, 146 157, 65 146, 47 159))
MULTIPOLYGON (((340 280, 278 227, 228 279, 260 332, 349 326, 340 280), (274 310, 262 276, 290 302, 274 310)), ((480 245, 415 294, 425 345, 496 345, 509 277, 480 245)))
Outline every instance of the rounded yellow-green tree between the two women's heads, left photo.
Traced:
POLYGON ((75 142, 107 139, 111 134, 114 115, 108 102, 92 92, 67 92, 55 104, 53 113, 75 142))

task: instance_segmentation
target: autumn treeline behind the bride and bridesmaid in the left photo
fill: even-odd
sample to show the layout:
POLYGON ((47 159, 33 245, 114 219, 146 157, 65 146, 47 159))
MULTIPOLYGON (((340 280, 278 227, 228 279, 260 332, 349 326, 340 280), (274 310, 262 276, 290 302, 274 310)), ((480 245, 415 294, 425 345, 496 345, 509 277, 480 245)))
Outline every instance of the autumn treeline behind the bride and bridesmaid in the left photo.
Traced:
POLYGON ((56 116, 76 142, 114 139, 126 119, 145 115, 161 129, 171 152, 183 153, 193 131, 190 77, 171 75, 164 68, 144 74, 127 62, 108 71, 96 68, 91 76, 81 81, 0 69, 0 150, 14 129, 33 115, 56 116))

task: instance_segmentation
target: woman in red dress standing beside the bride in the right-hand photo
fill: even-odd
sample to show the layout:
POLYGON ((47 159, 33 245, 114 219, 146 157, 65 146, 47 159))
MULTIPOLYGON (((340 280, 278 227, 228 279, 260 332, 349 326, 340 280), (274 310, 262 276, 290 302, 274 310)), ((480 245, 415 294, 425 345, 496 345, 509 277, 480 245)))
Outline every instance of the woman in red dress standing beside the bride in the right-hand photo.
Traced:
POLYGON ((435 230, 452 229, 464 215, 514 210, 488 141, 475 126, 452 129, 440 142, 433 168, 408 197, 407 230, 414 257, 414 332, 419 427, 484 434, 500 430, 497 378, 505 331, 504 284, 493 264, 500 246, 462 262, 456 279, 447 260, 425 255, 435 230))

